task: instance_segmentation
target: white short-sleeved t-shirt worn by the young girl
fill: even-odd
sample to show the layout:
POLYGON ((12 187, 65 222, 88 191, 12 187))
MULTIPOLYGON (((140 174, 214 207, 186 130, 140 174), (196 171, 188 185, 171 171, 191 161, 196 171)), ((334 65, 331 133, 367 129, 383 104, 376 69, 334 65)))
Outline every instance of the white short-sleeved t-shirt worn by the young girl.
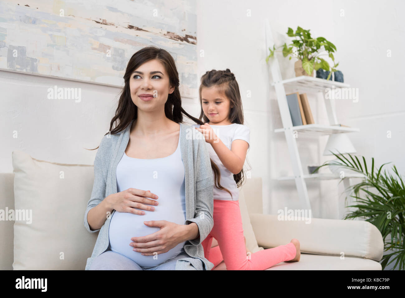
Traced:
MULTIPOLYGON (((193 126, 200 128, 200 125, 198 124, 194 124, 193 126)), ((234 140, 245 140, 249 145, 250 129, 246 125, 239 123, 232 123, 229 125, 210 125, 210 126, 213 128, 215 134, 222 140, 222 143, 224 143, 229 150, 231 149, 232 142, 234 140)), ((211 144, 209 143, 205 144, 207 145, 210 158, 212 159, 213 162, 215 162, 215 164, 220 169, 221 185, 227 188, 232 194, 231 197, 228 192, 222 189, 218 189, 217 187, 215 187, 214 184, 214 200, 231 200, 231 201, 239 200, 239 190, 233 178, 233 173, 222 164, 220 158, 218 158, 218 155, 217 153, 215 153, 215 150, 213 149, 211 144)), ((247 148, 249 150, 250 145, 247 148)))

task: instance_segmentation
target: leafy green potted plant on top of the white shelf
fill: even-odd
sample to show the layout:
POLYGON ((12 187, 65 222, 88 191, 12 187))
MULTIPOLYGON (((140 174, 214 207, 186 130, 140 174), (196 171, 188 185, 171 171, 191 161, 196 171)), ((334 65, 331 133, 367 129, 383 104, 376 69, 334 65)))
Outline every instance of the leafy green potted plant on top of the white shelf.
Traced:
POLYGON ((290 60, 292 57, 298 59, 294 64, 296 77, 301 75, 313 77, 314 70, 322 68, 325 71, 330 71, 327 78, 327 80, 329 80, 332 72, 337 71, 336 67, 339 63, 336 63, 335 57, 333 57, 333 53, 336 51, 336 47, 333 43, 326 40, 324 37, 311 38, 309 30, 304 30, 300 26, 297 27, 295 33, 292 28, 288 27, 287 35, 295 37, 295 39, 292 40, 290 45, 284 43, 284 45, 280 46, 279 48, 283 47, 282 51, 276 51, 275 45, 273 45, 273 49, 269 48, 270 54, 266 58, 266 63, 274 56, 275 52, 282 52, 284 57, 290 55, 290 60), (328 55, 334 65, 330 67, 329 63, 320 57, 322 55, 328 55))

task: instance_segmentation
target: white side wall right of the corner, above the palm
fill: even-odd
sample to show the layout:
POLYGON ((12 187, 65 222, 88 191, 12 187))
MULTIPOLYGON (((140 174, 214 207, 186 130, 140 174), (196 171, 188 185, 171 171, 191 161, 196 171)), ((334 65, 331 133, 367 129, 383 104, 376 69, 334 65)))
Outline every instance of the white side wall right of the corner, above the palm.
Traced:
POLYGON ((378 166, 396 165, 404 175, 405 158, 405 24, 403 1, 333 1, 339 68, 345 82, 358 88, 359 100, 337 105, 342 121, 360 128, 349 135, 359 155, 378 166), (344 9, 344 16, 340 10, 344 9), (390 50, 391 57, 387 57, 390 50), (391 137, 389 137, 391 134, 391 137))

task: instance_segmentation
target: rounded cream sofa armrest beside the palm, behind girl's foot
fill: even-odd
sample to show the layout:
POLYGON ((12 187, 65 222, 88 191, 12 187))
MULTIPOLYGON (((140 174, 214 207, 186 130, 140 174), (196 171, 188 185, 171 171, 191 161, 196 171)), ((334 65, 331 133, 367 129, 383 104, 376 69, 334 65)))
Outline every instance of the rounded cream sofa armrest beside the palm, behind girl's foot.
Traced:
POLYGON ((258 245, 264 248, 300 241, 303 253, 343 255, 379 262, 384 242, 376 226, 368 221, 308 218, 278 220, 277 215, 251 213, 250 222, 258 245))

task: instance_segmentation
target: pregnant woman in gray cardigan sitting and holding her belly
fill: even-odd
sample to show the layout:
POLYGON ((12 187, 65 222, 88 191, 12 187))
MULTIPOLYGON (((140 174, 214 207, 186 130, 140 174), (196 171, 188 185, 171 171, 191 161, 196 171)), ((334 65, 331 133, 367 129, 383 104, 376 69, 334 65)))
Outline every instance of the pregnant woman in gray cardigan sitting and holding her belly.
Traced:
POLYGON ((143 48, 128 62, 124 81, 94 160, 84 226, 99 234, 85 269, 211 270, 201 243, 213 227, 220 172, 204 136, 192 137, 182 123, 183 113, 203 124, 181 107, 173 57, 143 48))

